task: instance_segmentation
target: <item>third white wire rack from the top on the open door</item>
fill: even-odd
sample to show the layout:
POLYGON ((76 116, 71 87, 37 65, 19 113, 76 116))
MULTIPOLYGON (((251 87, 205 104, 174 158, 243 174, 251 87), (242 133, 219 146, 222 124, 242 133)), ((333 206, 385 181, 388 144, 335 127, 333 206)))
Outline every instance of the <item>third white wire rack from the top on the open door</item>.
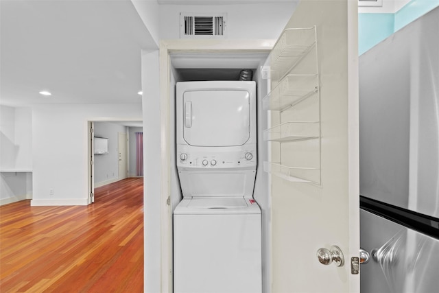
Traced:
POLYGON ((274 126, 263 132, 265 141, 303 141, 306 139, 318 139, 320 137, 320 123, 289 121, 274 126))

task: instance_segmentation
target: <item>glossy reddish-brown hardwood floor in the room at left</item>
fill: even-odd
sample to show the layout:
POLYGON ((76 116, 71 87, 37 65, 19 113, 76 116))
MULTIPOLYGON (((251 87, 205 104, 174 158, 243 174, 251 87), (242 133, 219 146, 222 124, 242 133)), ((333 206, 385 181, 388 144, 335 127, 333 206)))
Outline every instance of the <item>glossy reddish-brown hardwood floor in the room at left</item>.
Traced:
POLYGON ((0 292, 143 292, 143 178, 88 206, 0 207, 0 292))

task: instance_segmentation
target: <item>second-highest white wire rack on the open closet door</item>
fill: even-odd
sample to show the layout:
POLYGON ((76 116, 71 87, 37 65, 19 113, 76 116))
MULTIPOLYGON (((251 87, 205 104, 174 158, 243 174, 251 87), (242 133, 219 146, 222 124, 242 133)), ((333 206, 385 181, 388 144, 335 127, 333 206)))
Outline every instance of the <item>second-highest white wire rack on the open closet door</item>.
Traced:
POLYGON ((318 92, 318 75, 287 75, 262 100, 265 110, 285 110, 318 92))

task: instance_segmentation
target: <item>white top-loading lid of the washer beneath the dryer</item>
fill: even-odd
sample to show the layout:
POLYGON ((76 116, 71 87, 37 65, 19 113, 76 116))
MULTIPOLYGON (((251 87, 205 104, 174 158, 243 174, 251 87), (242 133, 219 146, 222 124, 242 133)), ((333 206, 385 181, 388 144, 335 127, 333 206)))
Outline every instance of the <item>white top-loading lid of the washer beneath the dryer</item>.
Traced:
POLYGON ((183 198, 174 215, 260 214, 261 209, 253 198, 183 198))

